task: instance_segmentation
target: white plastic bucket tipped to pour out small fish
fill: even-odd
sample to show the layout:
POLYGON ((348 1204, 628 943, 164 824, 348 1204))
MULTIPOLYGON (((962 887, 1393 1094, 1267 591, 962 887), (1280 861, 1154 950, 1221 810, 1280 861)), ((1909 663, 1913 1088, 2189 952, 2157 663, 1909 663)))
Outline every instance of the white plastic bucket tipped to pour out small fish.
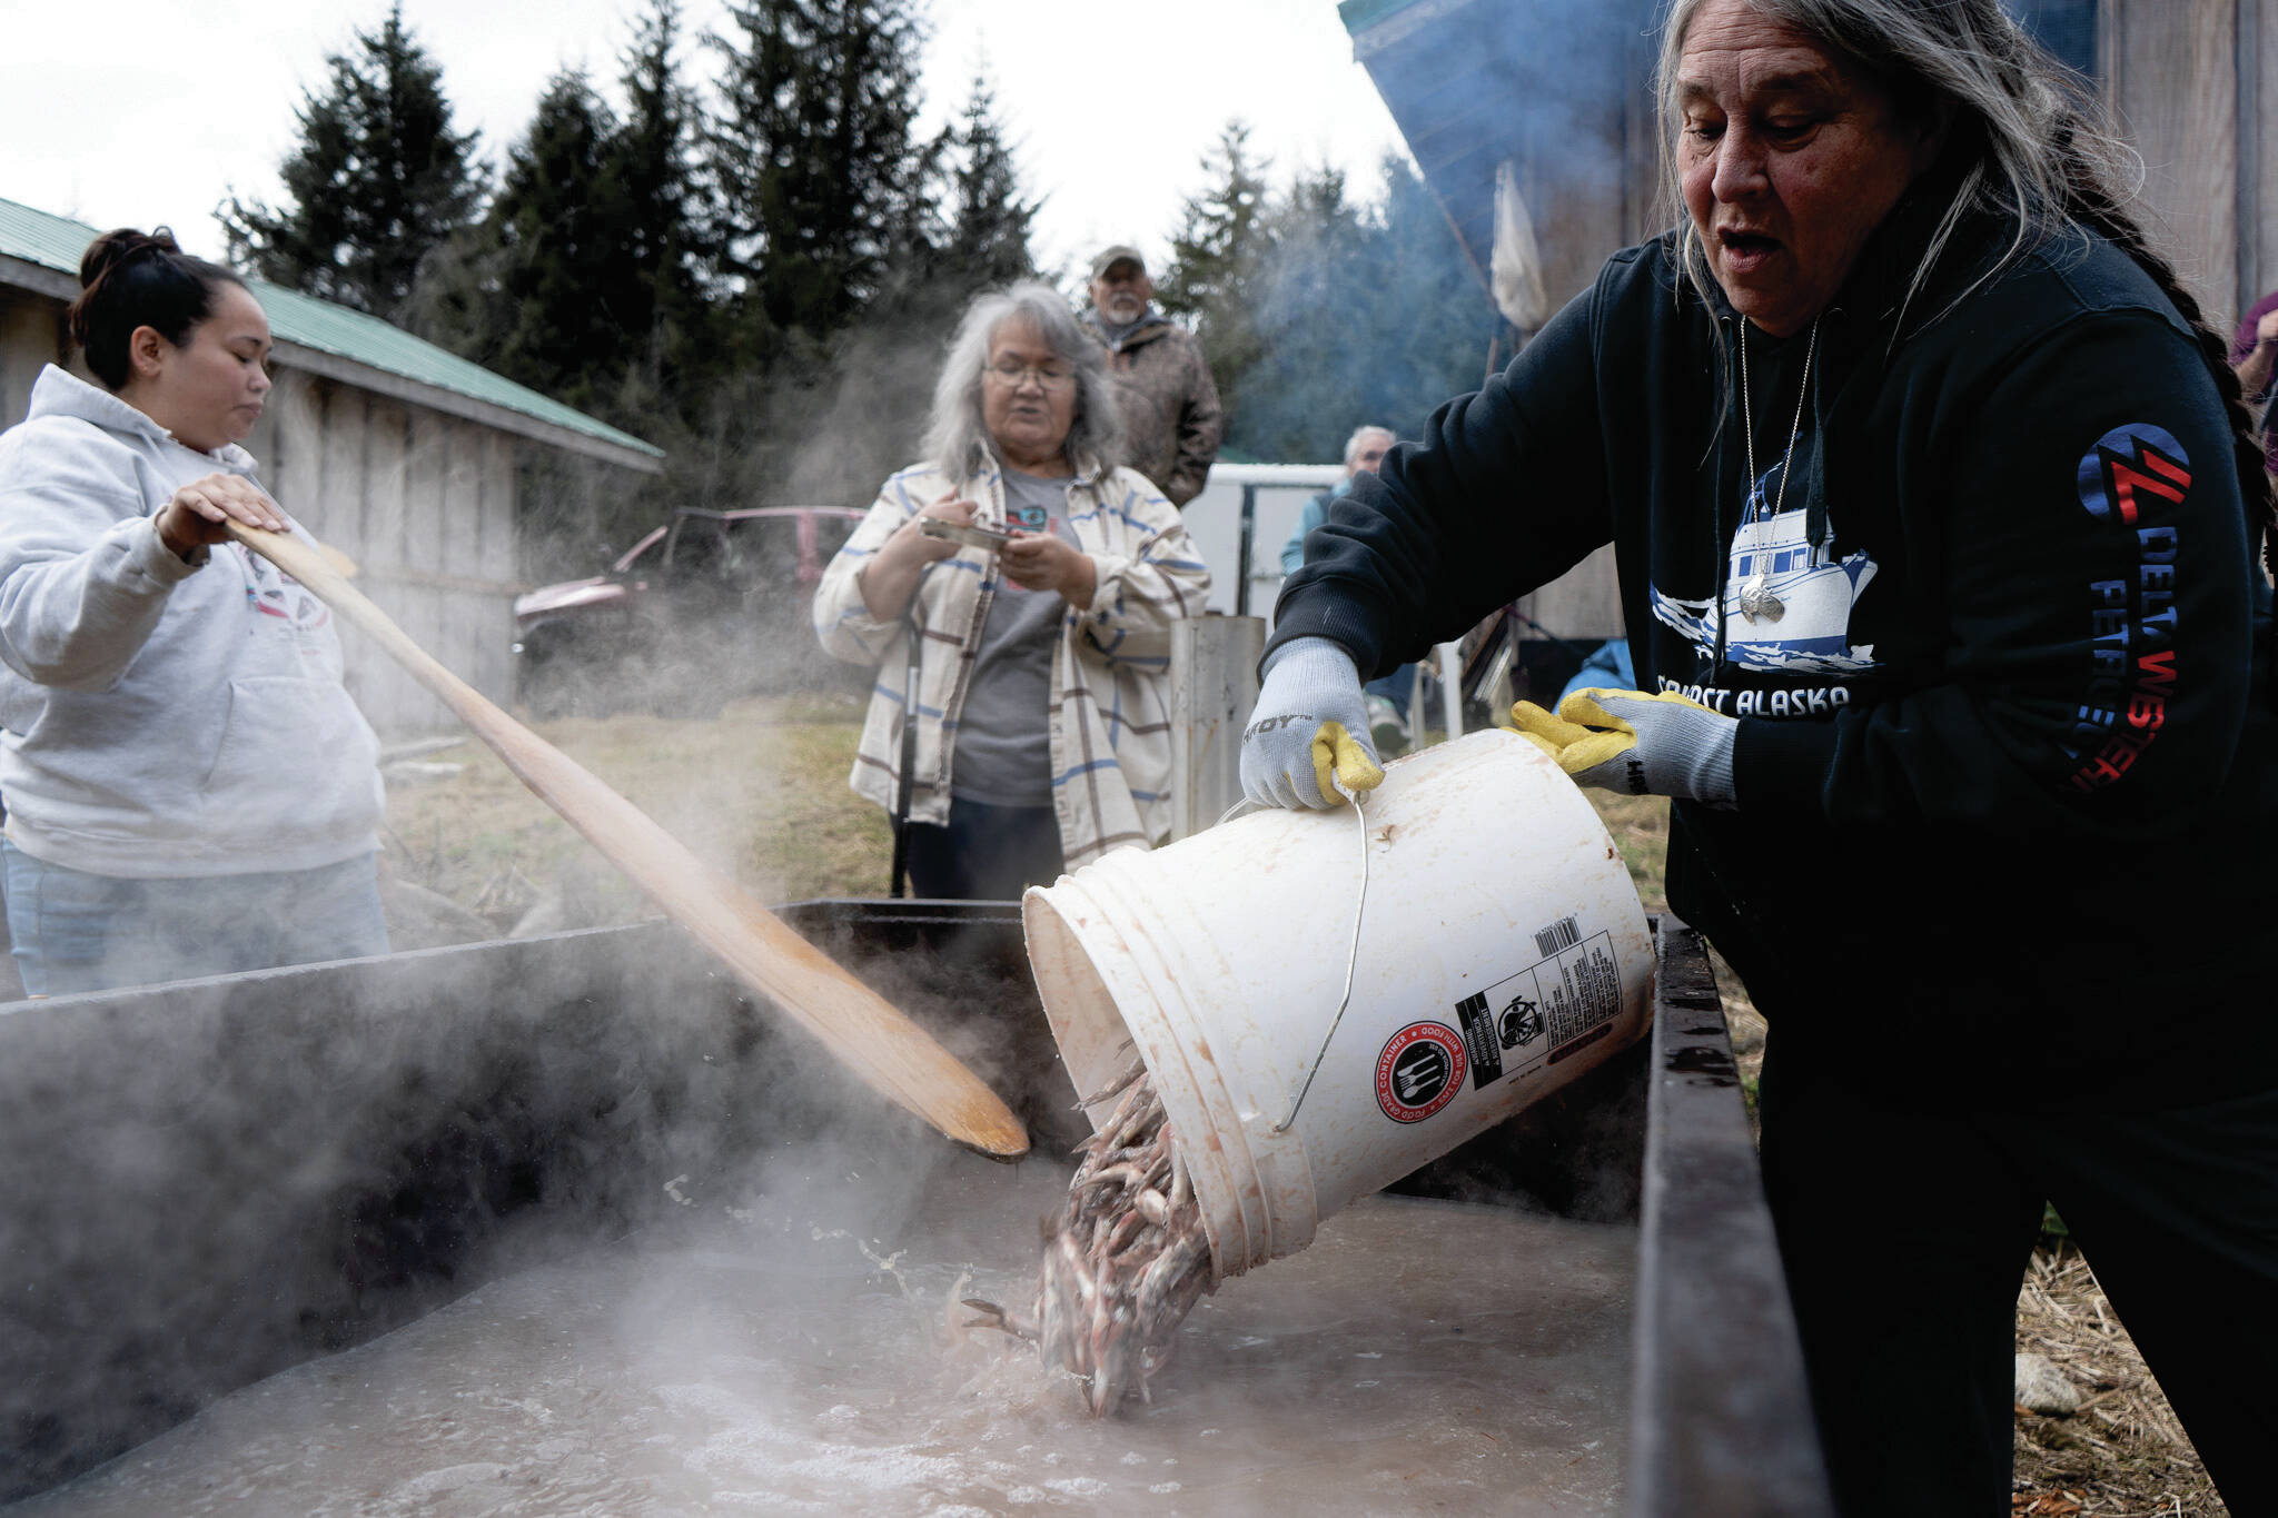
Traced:
POLYGON ((1118 849, 1030 888, 1021 917, 1075 1088, 1109 1083, 1130 1042, 1146 1058, 1221 1277, 1303 1249, 1321 1218, 1604 1063, 1652 1015, 1620 849, 1510 731, 1390 765, 1360 822, 1267 810, 1118 849))

